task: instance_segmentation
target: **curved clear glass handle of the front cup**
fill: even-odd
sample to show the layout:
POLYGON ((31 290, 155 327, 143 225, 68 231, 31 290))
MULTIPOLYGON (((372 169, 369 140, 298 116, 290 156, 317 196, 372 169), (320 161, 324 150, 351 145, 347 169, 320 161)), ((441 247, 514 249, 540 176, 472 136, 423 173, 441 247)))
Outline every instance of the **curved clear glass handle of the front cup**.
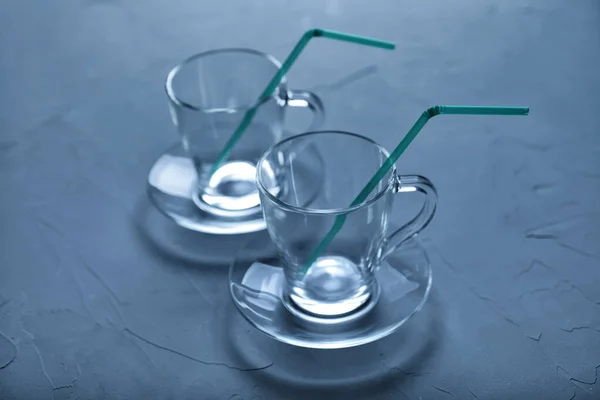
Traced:
POLYGON ((419 175, 396 176, 395 193, 418 192, 423 195, 423 207, 417 215, 389 235, 383 246, 382 258, 392 254, 406 240, 419 234, 433 219, 437 206, 437 190, 431 181, 419 175))

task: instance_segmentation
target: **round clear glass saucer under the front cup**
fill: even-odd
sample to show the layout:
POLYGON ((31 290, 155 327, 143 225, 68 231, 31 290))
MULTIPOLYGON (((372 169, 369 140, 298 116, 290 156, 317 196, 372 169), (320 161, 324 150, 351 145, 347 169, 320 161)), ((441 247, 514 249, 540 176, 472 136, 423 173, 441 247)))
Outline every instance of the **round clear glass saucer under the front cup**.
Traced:
POLYGON ((432 275, 429 258, 417 239, 407 240, 375 273, 378 297, 361 315, 327 319, 299 316, 283 298, 283 262, 264 237, 246 245, 229 269, 229 291, 239 312, 268 336, 294 346, 339 349, 381 339, 418 312, 429 296, 432 275), (243 257, 246 251, 262 256, 243 257))

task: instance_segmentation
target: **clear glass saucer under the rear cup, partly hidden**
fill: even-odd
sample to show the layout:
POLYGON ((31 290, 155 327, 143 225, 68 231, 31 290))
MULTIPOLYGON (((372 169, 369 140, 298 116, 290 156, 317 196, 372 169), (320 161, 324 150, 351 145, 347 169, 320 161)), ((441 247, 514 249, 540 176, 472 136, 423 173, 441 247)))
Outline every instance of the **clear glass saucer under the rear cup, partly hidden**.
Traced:
MULTIPOLYGON (((318 160, 320 157, 315 154, 318 160)), ((295 183, 306 186, 312 201, 320 189, 322 178, 316 174, 319 168, 311 168, 303 173, 302 181, 295 183)), ((237 235, 262 231, 266 228, 260 207, 253 213, 240 213, 238 216, 223 216, 203 210, 195 192, 196 171, 181 143, 178 143, 158 157, 148 173, 147 192, 152 204, 177 225, 196 232, 213 235, 237 235)), ((254 184, 254 175, 252 176, 254 184)), ((282 190, 285 190, 282 189, 282 190)), ((258 204, 258 193, 256 193, 258 204)))

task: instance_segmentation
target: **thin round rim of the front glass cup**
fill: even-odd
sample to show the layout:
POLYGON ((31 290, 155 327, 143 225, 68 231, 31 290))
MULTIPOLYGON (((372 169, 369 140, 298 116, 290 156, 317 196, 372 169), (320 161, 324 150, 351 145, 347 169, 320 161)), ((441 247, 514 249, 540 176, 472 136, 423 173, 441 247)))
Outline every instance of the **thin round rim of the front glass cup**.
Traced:
POLYGON ((278 143, 275 143, 273 146, 271 146, 266 152, 265 154, 262 155, 262 157, 258 160, 258 162, 256 163, 256 182, 257 182, 257 186, 259 188, 259 190, 265 195, 267 196, 267 198, 269 200, 271 200, 273 203, 275 203, 279 208, 281 208, 282 210, 285 211, 292 211, 292 212, 296 212, 296 213, 300 213, 300 214, 307 214, 307 215, 340 215, 340 214, 348 214, 351 213, 353 211, 359 210, 361 208, 367 207, 373 203, 375 203, 377 200, 379 200, 388 190, 391 190, 393 188, 393 182, 396 179, 396 165, 393 165, 392 168, 390 169, 390 179, 388 180, 388 182, 386 183, 386 185, 380 189, 374 196, 372 196, 370 199, 363 201, 362 203, 359 203, 355 206, 352 207, 346 207, 346 208, 307 208, 307 207, 298 207, 298 206, 294 206, 292 204, 286 203, 280 199, 278 199, 277 197, 273 196, 271 194, 271 192, 269 192, 269 190, 264 186, 262 179, 261 179, 261 165, 265 162, 265 160, 267 159, 267 157, 273 153, 273 151, 276 151, 278 147, 281 147, 282 145, 291 142, 293 140, 297 140, 297 139, 301 139, 301 138, 305 138, 308 136, 318 136, 318 135, 323 135, 323 134, 336 134, 336 135, 343 135, 343 136, 351 136, 357 139, 361 139, 366 143, 369 143, 371 145, 374 145, 375 147, 377 147, 379 149, 379 151, 381 151, 383 153, 383 155, 386 158, 389 158, 390 154, 389 152, 382 147, 381 145, 379 145, 377 142, 375 142, 372 139, 369 139, 366 136, 363 135, 359 135, 358 133, 352 133, 352 132, 346 132, 346 131, 338 131, 338 130, 322 130, 322 131, 312 131, 312 132, 305 132, 299 135, 295 135, 295 136, 291 136, 287 139, 284 139, 278 143))

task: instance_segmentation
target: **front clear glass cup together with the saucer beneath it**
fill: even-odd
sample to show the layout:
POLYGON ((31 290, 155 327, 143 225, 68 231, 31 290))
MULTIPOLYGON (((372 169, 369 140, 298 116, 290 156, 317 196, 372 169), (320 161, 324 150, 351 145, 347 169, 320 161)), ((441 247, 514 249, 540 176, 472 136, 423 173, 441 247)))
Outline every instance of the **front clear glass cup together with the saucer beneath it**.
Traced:
POLYGON ((251 323, 288 343, 347 347, 393 332, 421 307, 431 273, 414 237, 435 212, 431 182, 398 176, 393 168, 364 202, 349 207, 387 157, 363 136, 323 131, 286 139, 259 160, 272 249, 265 247, 265 257, 254 263, 237 259, 230 270, 234 302, 251 323), (297 185, 315 168, 322 185, 316 196, 297 185), (409 192, 423 194, 423 206, 392 229, 394 200, 409 192), (307 265, 339 218, 341 229, 307 265))

